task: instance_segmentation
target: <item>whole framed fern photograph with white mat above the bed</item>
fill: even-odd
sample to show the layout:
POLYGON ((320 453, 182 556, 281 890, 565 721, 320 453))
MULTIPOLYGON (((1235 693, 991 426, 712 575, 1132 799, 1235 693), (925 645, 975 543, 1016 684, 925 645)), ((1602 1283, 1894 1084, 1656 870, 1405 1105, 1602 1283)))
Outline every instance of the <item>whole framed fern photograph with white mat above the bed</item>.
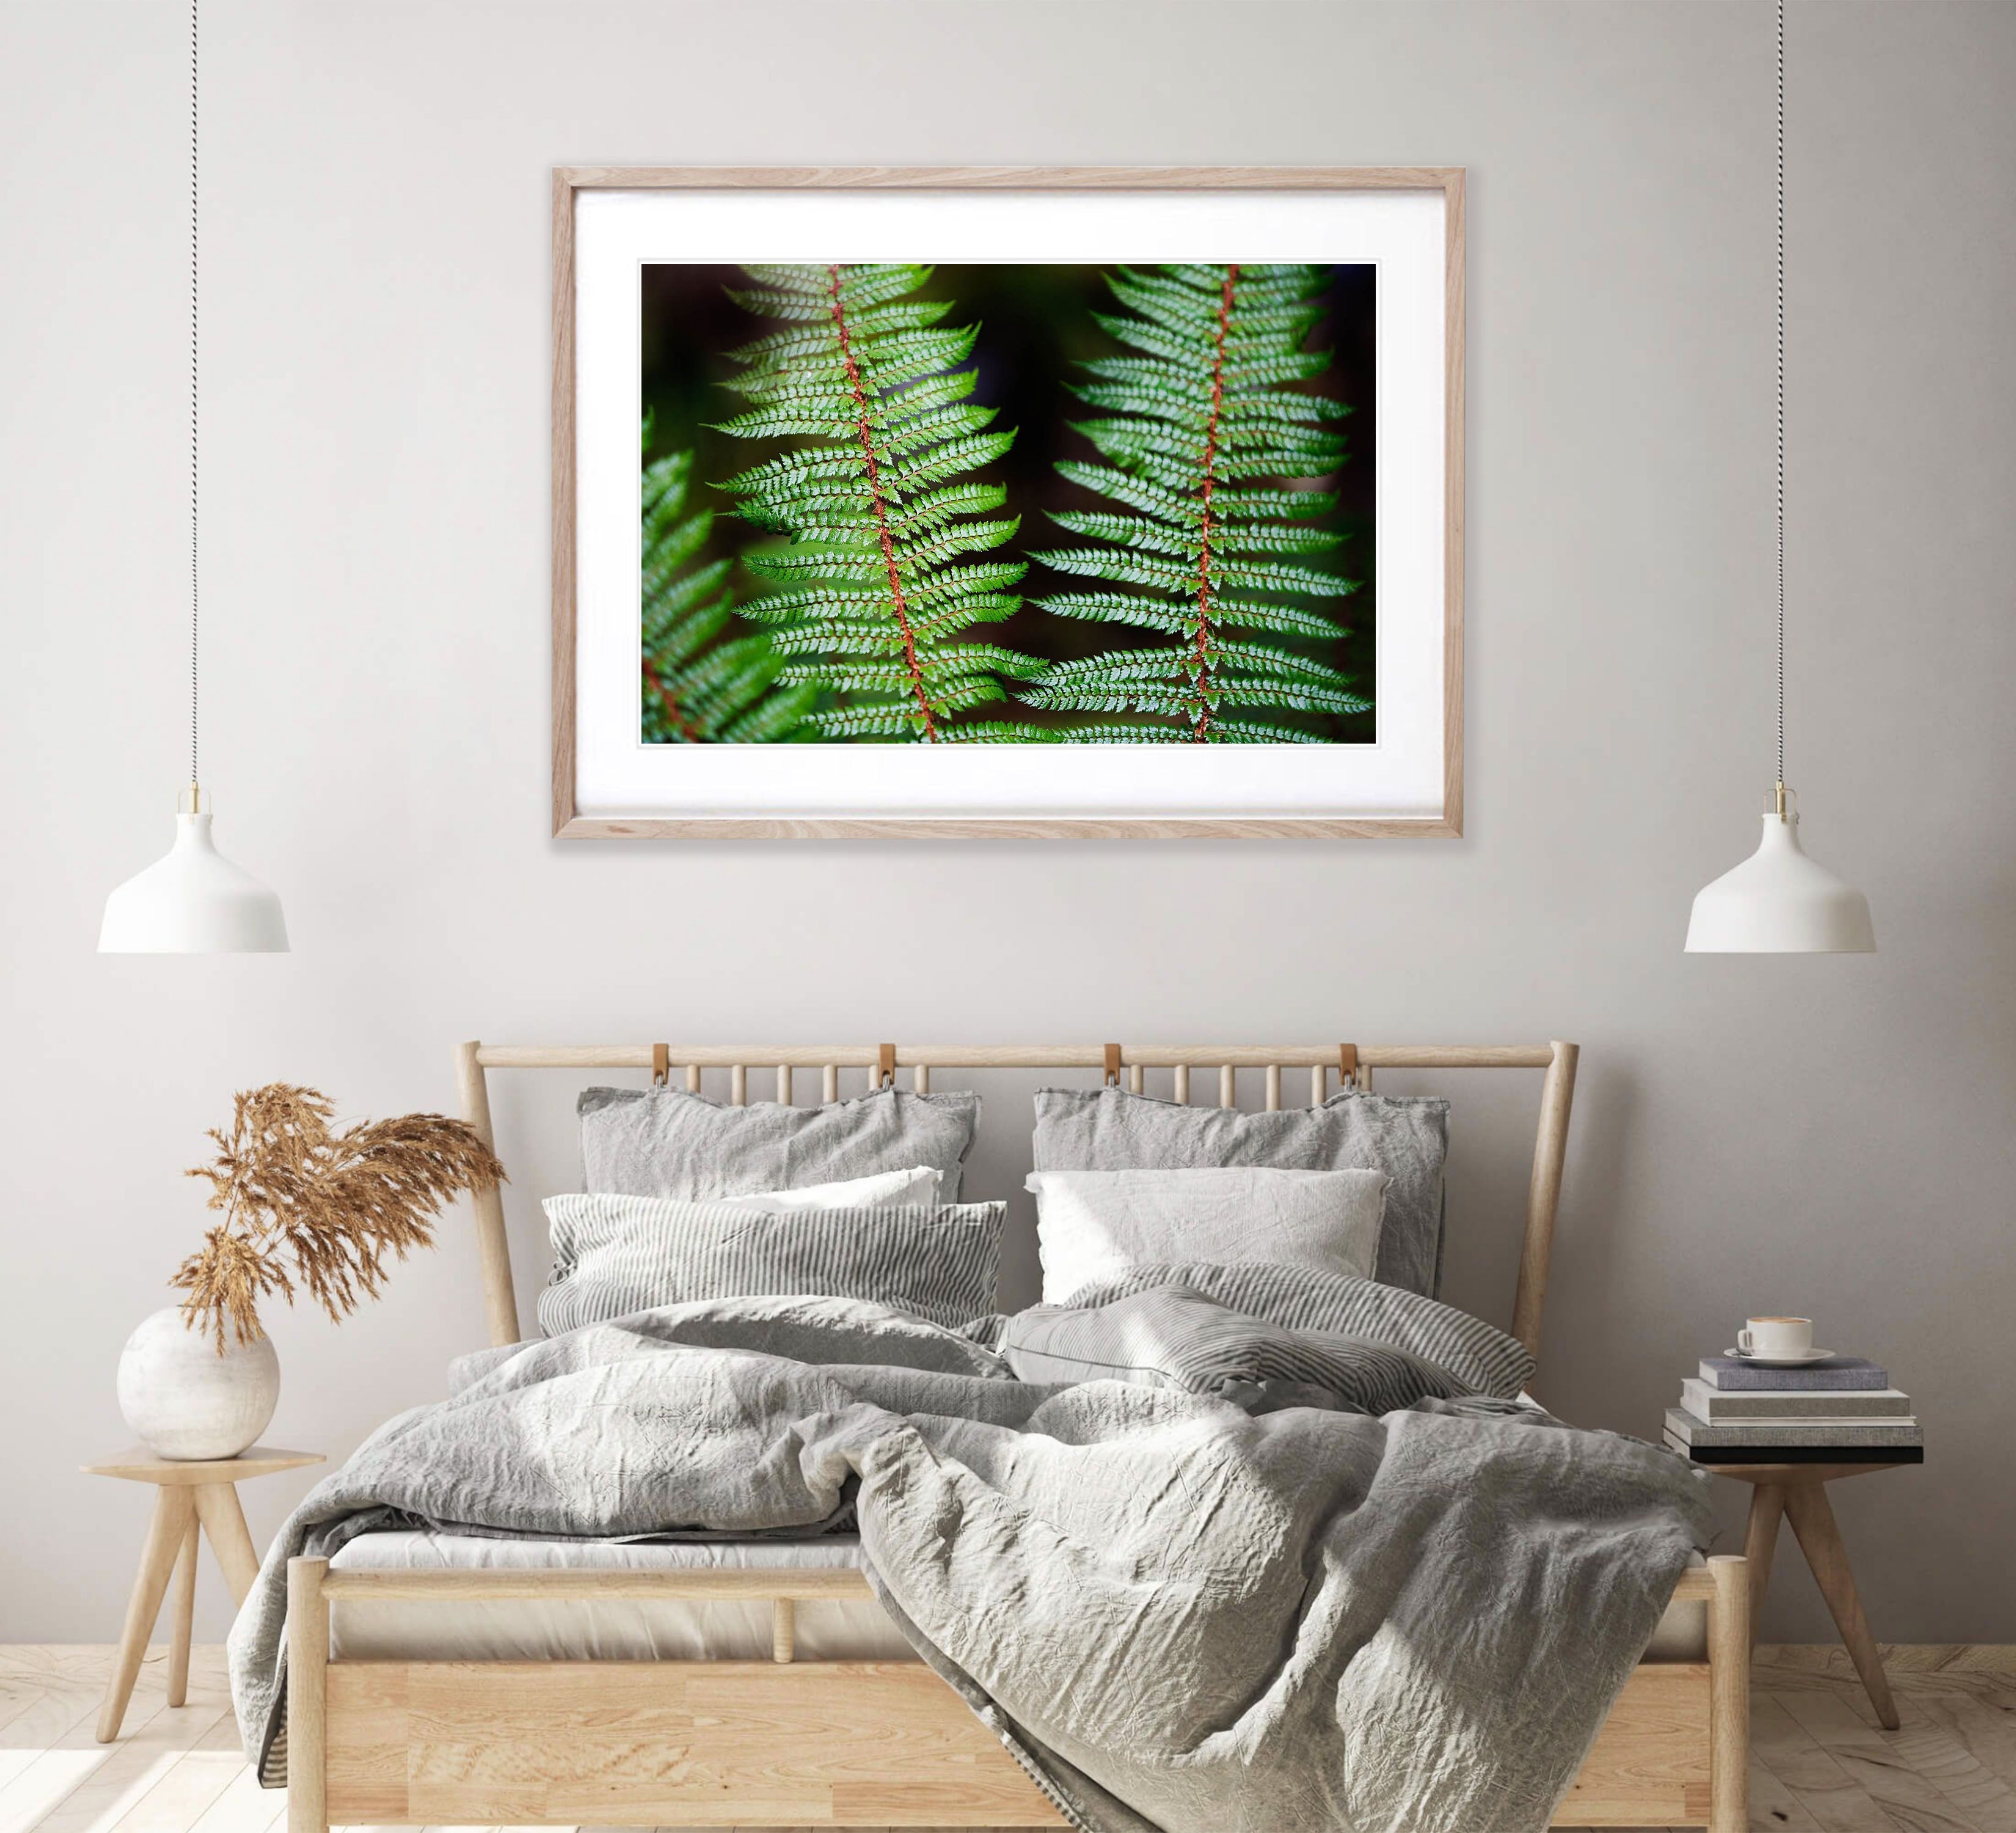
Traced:
POLYGON ((1462 833, 1464 173, 560 169, 560 837, 1462 833))

